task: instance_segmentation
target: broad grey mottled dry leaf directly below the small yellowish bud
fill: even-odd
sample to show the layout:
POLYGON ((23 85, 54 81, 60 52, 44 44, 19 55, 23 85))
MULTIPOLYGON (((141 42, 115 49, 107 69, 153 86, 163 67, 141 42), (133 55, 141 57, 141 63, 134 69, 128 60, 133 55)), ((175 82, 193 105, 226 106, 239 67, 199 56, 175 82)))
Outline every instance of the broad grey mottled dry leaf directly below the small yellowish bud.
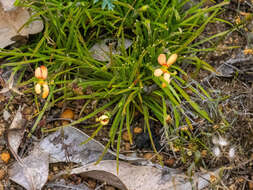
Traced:
MULTIPOLYGON (((40 149, 50 155, 50 163, 74 162, 87 164, 95 162, 104 150, 104 146, 95 140, 86 144, 82 142, 90 138, 74 127, 65 127, 63 131, 56 131, 40 142, 40 149)), ((105 159, 112 159, 110 154, 105 159)))

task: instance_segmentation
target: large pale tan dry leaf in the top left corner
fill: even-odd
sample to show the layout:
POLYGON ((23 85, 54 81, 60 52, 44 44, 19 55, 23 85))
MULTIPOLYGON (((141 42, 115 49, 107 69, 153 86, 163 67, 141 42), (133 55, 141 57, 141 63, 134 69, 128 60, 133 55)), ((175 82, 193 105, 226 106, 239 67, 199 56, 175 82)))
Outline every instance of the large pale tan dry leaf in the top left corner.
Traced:
POLYGON ((14 8, 14 2, 0 0, 0 48, 15 43, 12 40, 15 36, 28 36, 43 30, 43 22, 39 18, 26 24, 31 14, 25 8, 14 8))

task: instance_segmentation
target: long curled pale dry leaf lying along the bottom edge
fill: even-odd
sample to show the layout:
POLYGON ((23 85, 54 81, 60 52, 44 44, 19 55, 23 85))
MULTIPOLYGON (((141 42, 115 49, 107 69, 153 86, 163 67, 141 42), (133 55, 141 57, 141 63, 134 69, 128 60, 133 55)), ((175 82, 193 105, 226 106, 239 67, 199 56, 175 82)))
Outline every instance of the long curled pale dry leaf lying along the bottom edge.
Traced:
MULTIPOLYGON (((117 174, 117 161, 104 160, 73 169, 70 174, 81 174, 97 180, 105 181, 123 190, 185 190, 192 189, 189 178, 177 170, 168 169, 167 173, 152 166, 136 166, 126 162, 119 162, 117 174)), ((217 173, 217 172, 216 172, 217 173)), ((196 189, 203 189, 209 185, 211 173, 195 175, 192 179, 197 184, 196 189)))

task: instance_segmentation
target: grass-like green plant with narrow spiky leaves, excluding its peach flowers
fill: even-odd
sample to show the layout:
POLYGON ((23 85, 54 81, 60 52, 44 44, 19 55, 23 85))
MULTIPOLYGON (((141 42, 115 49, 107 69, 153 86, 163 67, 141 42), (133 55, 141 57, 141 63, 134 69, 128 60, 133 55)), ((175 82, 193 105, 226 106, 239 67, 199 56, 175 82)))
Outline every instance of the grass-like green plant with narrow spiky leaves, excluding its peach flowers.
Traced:
MULTIPOLYGON (((226 2, 203 8, 205 1, 201 1, 186 9, 188 2, 122 0, 114 1, 115 7, 112 11, 101 9, 100 5, 94 4, 93 1, 80 3, 70 0, 44 0, 23 4, 37 12, 34 17, 39 15, 43 18, 44 32, 18 49, 2 50, 0 57, 8 60, 3 66, 13 66, 15 70, 23 72, 28 71, 30 66, 35 68, 43 64, 48 68, 49 80, 54 81, 50 83, 50 94, 31 132, 37 127, 48 107, 59 101, 73 100, 87 100, 88 104, 96 99, 101 106, 70 125, 96 117, 105 110, 109 112, 110 141, 105 151, 110 145, 114 145, 117 138, 117 154, 121 131, 126 127, 130 134, 130 126, 136 112, 143 114, 151 141, 150 120, 160 121, 167 136, 177 131, 176 134, 183 137, 192 137, 190 130, 179 130, 184 124, 191 127, 194 120, 192 115, 212 122, 200 102, 193 99, 197 97, 198 101, 212 101, 211 96, 198 83, 189 83, 185 79, 189 75, 181 66, 183 63, 191 64, 197 69, 212 71, 211 66, 197 55, 200 51, 214 49, 198 47, 219 35, 196 43, 194 40, 203 32, 205 26, 215 19, 220 7, 226 2), (96 41, 105 37, 121 39, 123 42, 128 38, 133 44, 128 50, 122 45, 121 55, 111 55, 110 64, 107 64, 93 59, 89 52, 96 41), (168 70, 173 73, 172 80, 165 88, 162 87, 162 82, 166 81, 153 75, 159 66, 157 57, 161 53, 166 53, 167 56, 178 54, 177 63, 168 70), (86 95, 77 94, 72 88, 73 85, 81 88, 83 92, 91 87, 93 92, 86 95), (186 87, 193 95, 185 91, 186 87), (171 117, 170 122, 166 121, 168 116, 171 117)), ((34 81, 33 77, 19 86, 29 86, 34 81)), ((33 92, 33 87, 27 92, 33 92)), ((155 150, 153 141, 152 145, 155 150)))

